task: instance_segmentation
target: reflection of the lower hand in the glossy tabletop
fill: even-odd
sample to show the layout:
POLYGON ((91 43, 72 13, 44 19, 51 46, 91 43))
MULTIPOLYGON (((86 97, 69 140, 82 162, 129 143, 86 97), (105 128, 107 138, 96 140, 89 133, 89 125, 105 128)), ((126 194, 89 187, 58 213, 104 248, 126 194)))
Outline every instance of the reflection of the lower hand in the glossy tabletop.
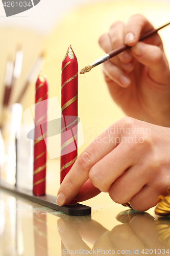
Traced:
MULTIPOLYGON (((130 215, 130 214, 129 214, 130 215)), ((135 214, 133 214, 135 215, 135 214)), ((168 221, 162 223, 168 227, 168 221)), ((107 230, 100 223, 91 220, 89 222, 71 223, 59 219, 57 221, 58 232, 65 246, 63 254, 84 251, 84 254, 103 255, 104 251, 110 254, 143 255, 147 251, 158 255, 159 252, 167 253, 168 246, 161 242, 155 229, 155 221, 152 216, 136 215, 130 223, 116 225, 112 230, 107 230), (92 249, 84 242, 92 244, 92 249), (103 250, 103 253, 102 253, 103 250), (87 252, 88 251, 88 252, 87 252), (143 251, 143 252, 142 252, 143 251), (138 252, 138 253, 137 253, 138 252)), ((160 229, 158 229, 160 230, 160 229)), ((162 230, 163 231, 163 230, 162 230)), ((167 232, 164 231, 167 239, 167 232)), ((161 238, 163 232, 161 232, 161 238)), ((82 253, 83 254, 83 253, 82 253)))

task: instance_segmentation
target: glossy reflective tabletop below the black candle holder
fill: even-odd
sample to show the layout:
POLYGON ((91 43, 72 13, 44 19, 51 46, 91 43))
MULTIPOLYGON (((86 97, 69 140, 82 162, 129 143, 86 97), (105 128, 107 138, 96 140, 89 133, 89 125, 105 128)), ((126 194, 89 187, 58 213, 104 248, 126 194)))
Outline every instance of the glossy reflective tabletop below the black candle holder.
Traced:
POLYGON ((0 255, 113 255, 170 253, 170 218, 154 208, 135 212, 106 193, 83 204, 92 214, 73 217, 0 190, 0 255))

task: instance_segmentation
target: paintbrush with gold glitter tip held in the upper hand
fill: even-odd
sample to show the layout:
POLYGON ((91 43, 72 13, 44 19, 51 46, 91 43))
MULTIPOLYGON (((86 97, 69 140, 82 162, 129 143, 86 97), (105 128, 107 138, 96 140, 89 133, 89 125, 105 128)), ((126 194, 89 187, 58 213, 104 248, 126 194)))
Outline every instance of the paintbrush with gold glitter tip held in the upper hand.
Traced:
MULTIPOLYGON (((140 36, 139 41, 142 41, 142 40, 144 40, 144 39, 146 39, 146 38, 148 38, 148 37, 150 37, 150 36, 156 34, 158 30, 160 30, 160 29, 162 29, 162 28, 168 26, 169 24, 170 24, 170 22, 167 23, 167 24, 165 24, 165 25, 163 25, 163 26, 161 26, 161 27, 158 28, 158 29, 152 29, 151 31, 149 31, 149 32, 145 33, 144 35, 140 36)), ((103 63, 104 61, 106 61, 106 60, 108 60, 108 59, 110 59, 110 58, 113 58, 113 57, 116 56, 117 54, 128 50, 129 48, 131 48, 131 47, 124 45, 124 46, 122 46, 122 47, 120 47, 120 48, 117 48, 117 49, 115 49, 115 50, 113 50, 113 51, 111 51, 111 52, 105 54, 105 55, 102 56, 101 58, 99 58, 99 59, 95 60, 94 62, 92 62, 89 66, 86 66, 85 68, 83 68, 83 69, 80 71, 80 74, 85 74, 85 73, 89 72, 92 68, 98 66, 99 64, 103 63)))

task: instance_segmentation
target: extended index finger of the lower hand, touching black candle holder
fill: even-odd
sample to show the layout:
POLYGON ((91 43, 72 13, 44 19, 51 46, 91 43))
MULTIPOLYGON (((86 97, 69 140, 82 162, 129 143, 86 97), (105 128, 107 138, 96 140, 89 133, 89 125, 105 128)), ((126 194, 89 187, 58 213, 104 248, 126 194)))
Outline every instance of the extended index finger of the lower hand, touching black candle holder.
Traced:
MULTIPOLYGON (((123 125, 121 120, 118 122, 120 126, 123 125)), ((109 134, 113 137, 111 129, 112 125, 98 136, 78 157, 60 185, 57 194, 58 205, 62 206, 70 202, 78 194, 82 185, 88 180, 91 167, 116 147, 115 143, 105 142, 109 134), (100 143, 98 142, 99 140, 100 143)))

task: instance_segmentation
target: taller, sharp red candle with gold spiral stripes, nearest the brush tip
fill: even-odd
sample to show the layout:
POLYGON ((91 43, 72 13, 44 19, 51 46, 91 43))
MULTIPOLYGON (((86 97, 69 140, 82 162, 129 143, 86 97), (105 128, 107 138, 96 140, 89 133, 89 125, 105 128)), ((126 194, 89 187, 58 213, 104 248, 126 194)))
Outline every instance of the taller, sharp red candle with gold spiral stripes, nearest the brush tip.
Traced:
MULTIPOLYGON (((77 159, 78 62, 71 46, 61 68, 61 175, 60 182, 77 159)), ((75 204, 77 199, 70 204, 75 204)))

